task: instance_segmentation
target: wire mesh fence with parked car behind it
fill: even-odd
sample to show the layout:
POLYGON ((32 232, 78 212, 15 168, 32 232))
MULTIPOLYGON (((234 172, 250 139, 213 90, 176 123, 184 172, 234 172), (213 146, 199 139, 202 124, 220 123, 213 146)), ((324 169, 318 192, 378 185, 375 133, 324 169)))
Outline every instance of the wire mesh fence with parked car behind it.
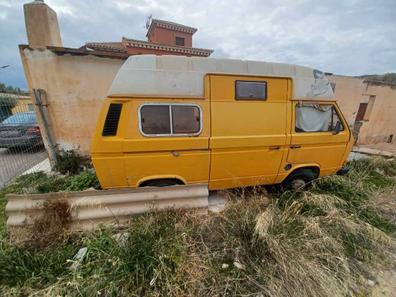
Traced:
POLYGON ((0 93, 0 188, 46 159, 30 97, 0 93))

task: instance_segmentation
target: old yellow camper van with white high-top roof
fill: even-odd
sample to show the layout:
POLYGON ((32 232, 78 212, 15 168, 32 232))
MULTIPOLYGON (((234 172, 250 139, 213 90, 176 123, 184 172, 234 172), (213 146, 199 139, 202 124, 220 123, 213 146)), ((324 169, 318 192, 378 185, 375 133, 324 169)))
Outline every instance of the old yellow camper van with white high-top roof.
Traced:
POLYGON ((104 189, 308 183, 345 172, 353 137, 323 72, 141 55, 103 104, 92 161, 104 189))

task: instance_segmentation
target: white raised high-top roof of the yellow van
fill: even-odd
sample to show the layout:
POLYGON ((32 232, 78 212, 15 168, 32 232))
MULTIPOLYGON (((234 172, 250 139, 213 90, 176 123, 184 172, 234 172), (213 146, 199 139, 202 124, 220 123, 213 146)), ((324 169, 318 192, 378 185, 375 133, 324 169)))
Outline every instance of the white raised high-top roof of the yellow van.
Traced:
POLYGON ((118 71, 109 96, 203 97, 207 73, 290 77, 293 99, 334 100, 330 82, 316 69, 247 60, 156 55, 130 56, 118 71))

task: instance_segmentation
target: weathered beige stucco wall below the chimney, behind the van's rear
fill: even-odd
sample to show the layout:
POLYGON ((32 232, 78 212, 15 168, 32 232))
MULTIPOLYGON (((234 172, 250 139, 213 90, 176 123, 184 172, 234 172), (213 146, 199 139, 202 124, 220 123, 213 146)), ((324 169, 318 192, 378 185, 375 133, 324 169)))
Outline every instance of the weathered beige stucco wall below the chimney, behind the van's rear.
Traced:
POLYGON ((46 92, 58 148, 89 154, 102 102, 124 61, 92 55, 58 56, 47 49, 25 48, 20 54, 30 90, 46 92))

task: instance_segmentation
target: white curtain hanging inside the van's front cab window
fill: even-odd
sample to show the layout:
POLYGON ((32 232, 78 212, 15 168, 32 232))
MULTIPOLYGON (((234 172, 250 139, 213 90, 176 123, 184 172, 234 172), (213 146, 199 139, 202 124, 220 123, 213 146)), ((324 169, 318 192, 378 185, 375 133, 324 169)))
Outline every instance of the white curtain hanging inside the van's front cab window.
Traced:
POLYGON ((331 105, 298 104, 296 107, 297 131, 329 131, 331 105))

